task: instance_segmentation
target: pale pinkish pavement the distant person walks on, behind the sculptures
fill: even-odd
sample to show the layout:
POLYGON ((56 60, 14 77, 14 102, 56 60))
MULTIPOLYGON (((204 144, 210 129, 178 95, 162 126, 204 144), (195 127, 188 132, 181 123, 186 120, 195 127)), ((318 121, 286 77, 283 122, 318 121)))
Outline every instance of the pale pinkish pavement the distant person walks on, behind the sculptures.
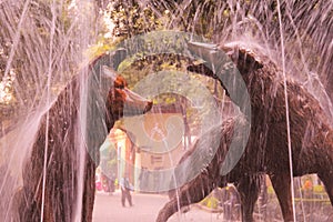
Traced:
MULTIPOLYGON (((162 194, 132 193, 133 206, 123 208, 120 202, 120 191, 109 195, 99 192, 95 195, 93 222, 154 222, 160 209, 167 203, 168 196, 162 194)), ((176 213, 168 222, 215 222, 223 221, 222 214, 211 213, 191 206, 186 213, 176 213)))

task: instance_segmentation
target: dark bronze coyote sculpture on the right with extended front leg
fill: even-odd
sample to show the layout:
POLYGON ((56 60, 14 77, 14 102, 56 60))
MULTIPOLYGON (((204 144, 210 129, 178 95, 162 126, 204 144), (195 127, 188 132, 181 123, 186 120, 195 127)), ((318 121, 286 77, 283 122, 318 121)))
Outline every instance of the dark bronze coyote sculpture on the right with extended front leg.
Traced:
MULTIPOLYGON (((210 51, 214 50, 212 46, 202 47, 191 43, 189 48, 208 62, 216 58, 209 57, 210 51)), ((249 91, 252 111, 250 138, 235 168, 226 175, 221 175, 219 169, 231 143, 236 119, 224 121, 220 147, 213 160, 208 167, 203 167, 205 170, 201 174, 180 188, 179 204, 184 206, 199 202, 214 188, 233 182, 241 196, 242 220, 253 221, 252 214, 260 191, 260 181, 263 174, 268 174, 278 195, 284 221, 293 221, 282 71, 269 58, 259 58, 241 46, 225 44, 220 49, 233 60, 249 91)), ((219 69, 219 65, 216 67, 219 69)), ((189 70, 213 78, 232 74, 221 71, 221 68, 220 72, 219 70, 213 72, 205 65, 191 65, 189 70)), ((223 81, 221 84, 229 92, 233 90, 225 87, 223 81)), ((317 173, 333 205, 333 128, 320 103, 300 83, 287 79, 286 91, 293 175, 317 173)), ((226 92, 226 94, 232 93, 226 92)), ((191 152, 193 151, 185 153, 181 162, 191 157, 191 152)), ((176 196, 173 196, 160 211, 157 221, 167 221, 178 211, 178 208, 176 196)))

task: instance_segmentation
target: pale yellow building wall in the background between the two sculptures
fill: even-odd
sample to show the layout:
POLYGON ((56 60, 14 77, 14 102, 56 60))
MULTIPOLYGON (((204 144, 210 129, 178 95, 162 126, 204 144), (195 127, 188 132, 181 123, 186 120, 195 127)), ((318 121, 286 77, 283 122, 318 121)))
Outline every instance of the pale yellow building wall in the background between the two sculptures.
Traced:
POLYGON ((134 188, 139 186, 141 169, 152 171, 173 169, 185 152, 182 142, 184 127, 180 113, 148 113, 142 117, 127 118, 122 128, 133 135, 113 129, 109 138, 115 143, 115 148, 121 147, 118 150, 120 151, 119 176, 130 172, 134 188), (135 149, 133 164, 127 154, 131 149, 131 141, 135 149), (160 147, 160 150, 154 150, 157 147, 160 147), (161 151, 163 148, 165 148, 164 152, 161 151))

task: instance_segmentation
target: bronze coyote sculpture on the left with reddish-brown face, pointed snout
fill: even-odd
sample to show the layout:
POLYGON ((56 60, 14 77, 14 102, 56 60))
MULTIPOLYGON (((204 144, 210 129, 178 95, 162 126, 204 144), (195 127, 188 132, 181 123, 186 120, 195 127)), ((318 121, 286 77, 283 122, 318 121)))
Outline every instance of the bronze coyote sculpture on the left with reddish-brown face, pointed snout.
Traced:
POLYGON ((18 215, 14 221, 70 222, 79 218, 92 221, 99 147, 114 122, 123 117, 124 103, 127 115, 143 114, 152 107, 152 102, 133 94, 124 79, 105 67, 118 67, 115 59, 120 56, 117 53, 121 51, 114 53, 98 58, 85 73, 75 75, 51 104, 48 115, 41 115, 23 169, 23 186, 16 196, 18 215), (88 84, 82 88, 84 74, 88 84), (81 94, 84 89, 88 89, 87 97, 81 94), (87 105, 87 111, 80 109, 82 105, 87 105), (87 127, 81 125, 84 117, 87 127), (80 164, 83 167, 81 174, 80 164))

